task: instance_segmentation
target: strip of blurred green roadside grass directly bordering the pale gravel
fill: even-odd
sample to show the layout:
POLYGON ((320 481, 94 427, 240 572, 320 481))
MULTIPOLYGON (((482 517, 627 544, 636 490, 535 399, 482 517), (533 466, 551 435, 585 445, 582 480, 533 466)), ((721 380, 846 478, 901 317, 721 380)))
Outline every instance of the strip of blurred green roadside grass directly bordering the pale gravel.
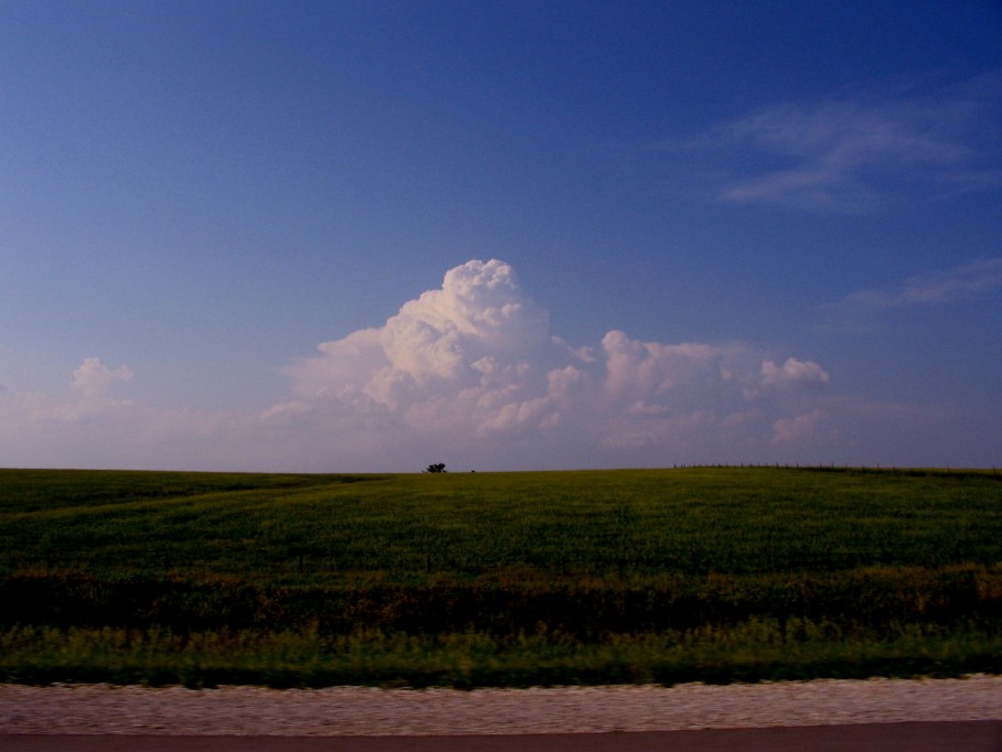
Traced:
POLYGON ((872 676, 1002 673, 1002 637, 918 627, 893 636, 832 640, 802 625, 795 642, 775 622, 690 633, 611 635, 579 643, 560 635, 499 640, 482 633, 346 636, 303 632, 128 631, 18 627, 0 634, 6 681, 214 687, 370 685, 529 687, 589 684, 675 685, 872 676))

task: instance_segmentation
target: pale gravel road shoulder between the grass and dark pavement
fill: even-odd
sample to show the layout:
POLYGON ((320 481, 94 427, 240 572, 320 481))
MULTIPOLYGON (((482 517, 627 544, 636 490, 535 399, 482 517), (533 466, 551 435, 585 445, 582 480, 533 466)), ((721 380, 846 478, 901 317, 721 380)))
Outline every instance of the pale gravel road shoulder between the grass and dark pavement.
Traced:
POLYGON ((0 732, 425 735, 1002 720, 1002 677, 534 689, 0 685, 0 732))

